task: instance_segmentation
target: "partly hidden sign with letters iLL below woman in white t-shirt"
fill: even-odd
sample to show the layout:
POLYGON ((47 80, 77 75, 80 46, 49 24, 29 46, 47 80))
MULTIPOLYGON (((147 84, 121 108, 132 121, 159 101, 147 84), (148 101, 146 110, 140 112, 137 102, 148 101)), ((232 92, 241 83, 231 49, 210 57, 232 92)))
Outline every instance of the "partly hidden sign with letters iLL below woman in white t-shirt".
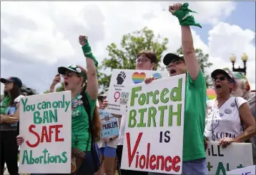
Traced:
POLYGON ((219 141, 209 141, 206 154, 209 174, 226 174, 226 171, 253 165, 252 144, 232 143, 222 149, 219 141))

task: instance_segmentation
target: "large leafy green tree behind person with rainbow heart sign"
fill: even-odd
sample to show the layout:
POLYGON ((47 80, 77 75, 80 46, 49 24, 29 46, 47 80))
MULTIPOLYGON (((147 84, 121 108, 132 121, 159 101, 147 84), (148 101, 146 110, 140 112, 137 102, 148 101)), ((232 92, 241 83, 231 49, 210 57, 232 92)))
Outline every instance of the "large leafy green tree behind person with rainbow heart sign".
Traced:
POLYGON ((147 27, 122 37, 121 48, 117 44, 107 46, 108 57, 102 61, 102 65, 97 69, 99 88, 106 91, 109 87, 111 74, 103 74, 102 71, 108 69, 135 69, 135 60, 137 54, 143 50, 155 51, 157 54, 158 69, 159 61, 162 58, 162 52, 167 50, 168 39, 162 39, 159 35, 154 36, 154 32, 147 27))

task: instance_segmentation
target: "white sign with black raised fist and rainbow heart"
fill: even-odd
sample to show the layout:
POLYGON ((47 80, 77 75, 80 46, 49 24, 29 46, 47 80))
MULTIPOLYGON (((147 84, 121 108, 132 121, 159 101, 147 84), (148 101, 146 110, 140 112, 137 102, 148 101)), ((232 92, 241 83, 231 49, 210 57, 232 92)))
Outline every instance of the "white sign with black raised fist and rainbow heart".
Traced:
POLYGON ((105 111, 112 114, 127 114, 127 101, 132 84, 139 84, 144 78, 154 76, 157 79, 168 76, 167 71, 142 71, 113 69, 107 95, 108 106, 105 111))

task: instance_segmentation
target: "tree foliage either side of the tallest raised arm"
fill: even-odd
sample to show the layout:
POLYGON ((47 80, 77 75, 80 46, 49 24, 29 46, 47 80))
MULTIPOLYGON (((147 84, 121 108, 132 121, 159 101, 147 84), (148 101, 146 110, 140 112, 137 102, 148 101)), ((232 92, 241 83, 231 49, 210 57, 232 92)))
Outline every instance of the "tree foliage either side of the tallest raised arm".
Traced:
MULTIPOLYGON (((182 53, 182 47, 177 49, 176 54, 183 54, 182 53)), ((205 74, 205 81, 206 81, 206 86, 207 88, 209 86, 212 86, 210 76, 206 74, 205 69, 209 68, 212 66, 212 63, 209 62, 209 54, 204 54, 202 52, 202 49, 195 49, 195 55, 197 56, 197 60, 201 66, 202 73, 205 74)))

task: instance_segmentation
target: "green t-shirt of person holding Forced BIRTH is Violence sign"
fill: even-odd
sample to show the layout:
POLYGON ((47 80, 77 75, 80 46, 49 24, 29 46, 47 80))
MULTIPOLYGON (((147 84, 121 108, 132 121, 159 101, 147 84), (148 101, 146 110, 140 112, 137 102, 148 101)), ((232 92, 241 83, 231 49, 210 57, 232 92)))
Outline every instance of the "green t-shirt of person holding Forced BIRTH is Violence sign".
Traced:
POLYGON ((187 74, 184 109, 183 161, 205 158, 205 77, 200 70, 195 81, 187 74))

